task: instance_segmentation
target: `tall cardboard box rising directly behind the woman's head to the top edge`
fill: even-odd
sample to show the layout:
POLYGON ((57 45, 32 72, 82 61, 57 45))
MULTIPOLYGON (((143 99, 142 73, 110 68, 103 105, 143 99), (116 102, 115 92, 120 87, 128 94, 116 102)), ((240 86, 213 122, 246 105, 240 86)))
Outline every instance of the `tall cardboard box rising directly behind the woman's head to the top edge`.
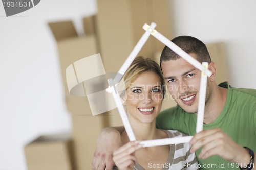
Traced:
MULTIPOLYGON (((117 72, 144 34, 144 23, 157 24, 167 38, 171 37, 169 1, 162 0, 97 0, 96 33, 106 72, 117 72)), ((164 45, 153 36, 139 55, 153 58, 164 45)), ((105 114, 105 113, 104 113, 105 114)), ((107 113, 110 126, 122 125, 117 109, 107 113)))

